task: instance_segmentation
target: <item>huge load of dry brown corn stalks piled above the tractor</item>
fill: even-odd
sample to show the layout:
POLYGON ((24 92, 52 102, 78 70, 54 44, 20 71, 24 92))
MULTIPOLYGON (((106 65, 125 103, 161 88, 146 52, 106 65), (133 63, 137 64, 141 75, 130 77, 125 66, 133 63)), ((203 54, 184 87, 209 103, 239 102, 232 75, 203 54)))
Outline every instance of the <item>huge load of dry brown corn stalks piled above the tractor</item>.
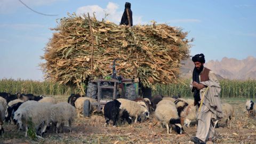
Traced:
POLYGON ((111 75, 110 65, 118 58, 117 75, 139 77, 144 86, 154 87, 177 82, 180 61, 189 57, 190 41, 180 28, 155 22, 118 26, 85 14, 68 16, 52 29, 42 57, 45 77, 53 82, 83 89, 88 78, 111 75))

